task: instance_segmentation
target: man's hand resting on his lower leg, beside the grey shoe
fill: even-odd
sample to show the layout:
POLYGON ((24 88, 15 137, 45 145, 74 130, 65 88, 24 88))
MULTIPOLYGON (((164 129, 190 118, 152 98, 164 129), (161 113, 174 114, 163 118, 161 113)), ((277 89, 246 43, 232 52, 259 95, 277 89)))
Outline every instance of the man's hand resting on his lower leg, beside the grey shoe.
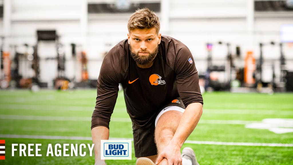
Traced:
POLYGON ((182 165, 182 157, 178 144, 172 141, 159 153, 156 164, 159 164, 164 158, 167 159, 168 165, 182 165))

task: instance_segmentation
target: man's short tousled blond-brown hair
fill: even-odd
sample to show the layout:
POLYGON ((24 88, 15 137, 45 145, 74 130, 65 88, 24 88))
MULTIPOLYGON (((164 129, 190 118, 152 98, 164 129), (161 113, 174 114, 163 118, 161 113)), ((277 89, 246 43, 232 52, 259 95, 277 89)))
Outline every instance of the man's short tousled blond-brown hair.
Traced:
POLYGON ((129 32, 134 29, 155 28, 156 32, 159 33, 160 20, 159 17, 150 9, 138 9, 130 16, 127 23, 127 28, 129 32))

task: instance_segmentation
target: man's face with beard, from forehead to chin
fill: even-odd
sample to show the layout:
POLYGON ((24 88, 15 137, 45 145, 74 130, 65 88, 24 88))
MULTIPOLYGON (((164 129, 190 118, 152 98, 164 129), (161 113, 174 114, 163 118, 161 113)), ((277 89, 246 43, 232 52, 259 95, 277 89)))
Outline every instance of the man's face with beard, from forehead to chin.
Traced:
POLYGON ((137 64, 146 65, 154 60, 161 43, 161 33, 155 28, 134 29, 127 34, 131 56, 137 64))

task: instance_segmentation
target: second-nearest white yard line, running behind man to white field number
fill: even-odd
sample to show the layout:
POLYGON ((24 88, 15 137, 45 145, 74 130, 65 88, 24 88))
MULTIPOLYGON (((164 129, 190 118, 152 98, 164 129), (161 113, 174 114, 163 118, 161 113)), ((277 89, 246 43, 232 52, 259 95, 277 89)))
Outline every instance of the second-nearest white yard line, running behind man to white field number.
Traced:
MULTIPOLYGON (((41 121, 91 121, 91 117, 63 117, 63 116, 30 116, 30 115, 0 115, 0 119, 10 120, 41 120, 41 121)), ((112 117, 112 122, 131 122, 130 118, 112 117)), ((205 120, 201 119, 202 124, 251 124, 260 121, 244 120, 205 120)))

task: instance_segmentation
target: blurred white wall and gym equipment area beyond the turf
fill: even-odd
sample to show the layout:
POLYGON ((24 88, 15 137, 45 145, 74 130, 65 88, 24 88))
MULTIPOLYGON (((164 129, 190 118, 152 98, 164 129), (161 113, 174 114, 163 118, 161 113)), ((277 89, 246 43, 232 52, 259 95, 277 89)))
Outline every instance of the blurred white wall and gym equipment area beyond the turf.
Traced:
POLYGON ((96 88, 143 7, 188 46, 202 92, 293 91, 292 0, 0 0, 1 88, 96 88))

